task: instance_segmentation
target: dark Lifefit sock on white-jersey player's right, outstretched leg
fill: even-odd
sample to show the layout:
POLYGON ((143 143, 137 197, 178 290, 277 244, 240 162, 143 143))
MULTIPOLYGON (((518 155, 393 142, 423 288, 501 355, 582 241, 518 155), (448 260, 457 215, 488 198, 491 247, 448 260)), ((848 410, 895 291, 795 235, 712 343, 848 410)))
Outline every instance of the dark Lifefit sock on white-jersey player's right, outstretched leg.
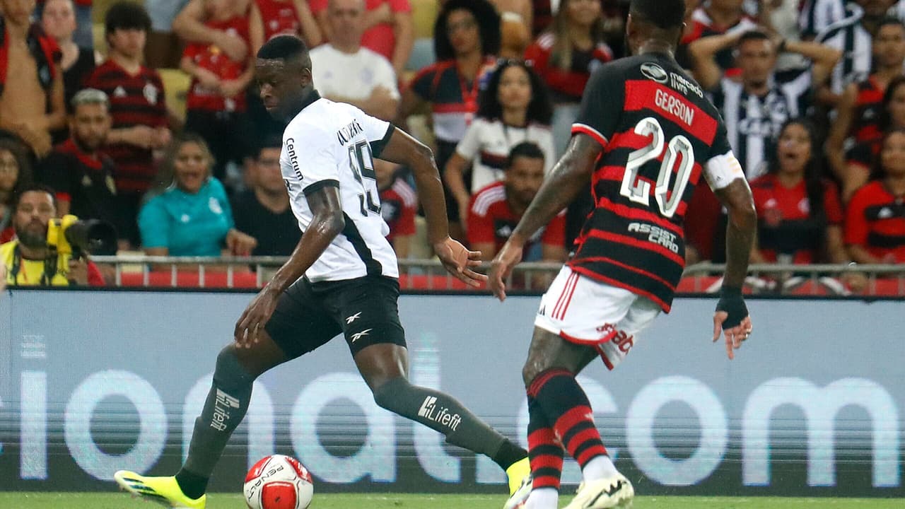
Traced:
MULTIPOLYGON (((382 408, 443 433, 453 446, 494 458, 494 461, 499 456, 497 464, 500 466, 503 466, 502 462, 509 462, 504 468, 514 463, 510 459, 515 453, 506 445, 509 438, 500 435, 448 394, 414 386, 399 377, 378 387, 374 400, 382 408)), ((527 451, 521 449, 521 457, 526 456, 527 451)))

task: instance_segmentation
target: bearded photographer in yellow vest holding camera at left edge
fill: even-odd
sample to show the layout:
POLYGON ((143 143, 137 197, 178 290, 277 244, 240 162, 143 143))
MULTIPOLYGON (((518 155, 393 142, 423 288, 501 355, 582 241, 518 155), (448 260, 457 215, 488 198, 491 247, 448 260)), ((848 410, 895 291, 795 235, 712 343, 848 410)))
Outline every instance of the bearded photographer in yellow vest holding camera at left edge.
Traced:
POLYGON ((16 198, 16 239, 0 245, 5 283, 103 286, 100 270, 88 259, 87 251, 93 245, 109 243, 112 227, 96 221, 78 221, 75 216, 57 219, 54 195, 50 187, 31 186, 16 198))

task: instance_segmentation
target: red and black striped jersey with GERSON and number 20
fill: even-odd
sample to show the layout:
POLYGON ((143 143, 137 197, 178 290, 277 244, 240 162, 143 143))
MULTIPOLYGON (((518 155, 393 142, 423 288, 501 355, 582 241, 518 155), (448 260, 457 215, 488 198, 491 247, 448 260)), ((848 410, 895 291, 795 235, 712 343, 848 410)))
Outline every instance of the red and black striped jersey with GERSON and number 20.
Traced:
POLYGON ((669 312, 701 173, 713 188, 745 178, 719 111, 672 57, 645 53, 595 72, 572 132, 604 150, 592 179, 595 209, 568 264, 669 312))

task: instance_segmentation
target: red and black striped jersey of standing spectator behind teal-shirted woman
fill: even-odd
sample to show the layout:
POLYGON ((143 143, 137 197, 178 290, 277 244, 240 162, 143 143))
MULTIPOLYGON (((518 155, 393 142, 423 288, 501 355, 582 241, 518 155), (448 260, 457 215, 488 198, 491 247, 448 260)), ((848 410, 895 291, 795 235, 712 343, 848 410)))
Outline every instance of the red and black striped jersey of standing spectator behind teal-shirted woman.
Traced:
MULTIPOLYGON (((142 66, 130 74, 108 60, 91 72, 85 86, 107 93, 113 129, 133 126, 167 127, 164 84, 153 69, 142 66)), ((107 145, 103 151, 116 163, 116 186, 127 193, 145 192, 154 180, 154 157, 150 149, 125 143, 107 145)))

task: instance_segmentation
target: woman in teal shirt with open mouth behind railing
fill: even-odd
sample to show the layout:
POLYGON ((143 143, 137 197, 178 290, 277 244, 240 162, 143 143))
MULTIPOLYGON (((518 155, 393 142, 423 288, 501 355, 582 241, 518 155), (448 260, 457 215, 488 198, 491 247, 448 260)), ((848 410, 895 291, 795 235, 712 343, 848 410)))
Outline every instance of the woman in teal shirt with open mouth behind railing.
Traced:
MULTIPOLYGON (((148 255, 219 256, 251 254, 255 240, 234 228, 223 184, 211 176, 213 158, 203 139, 174 140, 164 171, 172 184, 138 213, 141 244, 148 255)), ((166 179, 165 179, 166 181, 166 179)))

